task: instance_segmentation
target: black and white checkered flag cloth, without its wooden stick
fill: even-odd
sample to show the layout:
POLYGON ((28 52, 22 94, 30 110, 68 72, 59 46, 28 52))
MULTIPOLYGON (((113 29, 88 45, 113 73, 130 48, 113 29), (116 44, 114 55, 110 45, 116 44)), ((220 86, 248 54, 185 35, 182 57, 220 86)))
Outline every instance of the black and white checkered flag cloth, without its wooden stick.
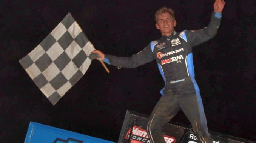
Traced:
POLYGON ((19 60, 25 71, 55 105, 85 74, 95 48, 68 13, 28 55, 19 60))

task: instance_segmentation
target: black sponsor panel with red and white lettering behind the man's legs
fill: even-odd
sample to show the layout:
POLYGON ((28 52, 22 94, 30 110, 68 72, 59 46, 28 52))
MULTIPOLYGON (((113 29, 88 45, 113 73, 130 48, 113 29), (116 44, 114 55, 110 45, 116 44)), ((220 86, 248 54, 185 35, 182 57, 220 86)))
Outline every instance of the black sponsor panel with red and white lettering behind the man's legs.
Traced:
MULTIPOLYGON (((147 133, 148 115, 127 110, 118 143, 151 143, 147 133)), ((256 143, 210 131, 212 143, 256 143)), ((163 129, 166 143, 199 143, 191 126, 170 121, 163 129)))

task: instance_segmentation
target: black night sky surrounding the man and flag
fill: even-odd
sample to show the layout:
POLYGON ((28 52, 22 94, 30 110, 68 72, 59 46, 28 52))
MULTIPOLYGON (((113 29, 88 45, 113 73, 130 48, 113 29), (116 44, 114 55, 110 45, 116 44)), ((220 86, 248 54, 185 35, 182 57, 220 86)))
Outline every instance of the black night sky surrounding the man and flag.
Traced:
MULTIPOLYGON (((30 121, 117 142, 126 110, 150 114, 164 83, 155 61, 106 73, 93 60, 53 106, 22 68, 26 56, 71 12, 94 47, 131 56, 160 38, 154 13, 176 12, 176 31, 207 26, 214 0, 0 1, 0 142, 23 143, 30 121)), ((255 0, 227 0, 217 35, 193 48, 210 131, 256 141, 255 0)), ((173 121, 190 125, 180 111, 173 121)))

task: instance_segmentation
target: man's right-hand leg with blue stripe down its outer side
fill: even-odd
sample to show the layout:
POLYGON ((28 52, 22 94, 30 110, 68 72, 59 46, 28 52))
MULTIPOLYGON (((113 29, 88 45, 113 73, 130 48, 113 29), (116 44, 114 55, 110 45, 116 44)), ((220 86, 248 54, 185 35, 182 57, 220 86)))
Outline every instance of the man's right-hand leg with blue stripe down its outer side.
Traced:
POLYGON ((180 96, 179 105, 188 120, 190 120, 199 143, 211 143, 201 96, 180 96))

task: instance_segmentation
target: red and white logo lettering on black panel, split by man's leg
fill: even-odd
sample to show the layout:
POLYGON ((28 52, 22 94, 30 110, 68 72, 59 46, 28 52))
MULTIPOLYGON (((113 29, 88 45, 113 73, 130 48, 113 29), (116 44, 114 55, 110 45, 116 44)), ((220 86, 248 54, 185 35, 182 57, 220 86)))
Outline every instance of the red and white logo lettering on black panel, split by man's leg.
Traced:
MULTIPOLYGON (((147 131, 137 126, 133 126, 132 132, 131 132, 131 128, 128 130, 128 132, 126 133, 125 139, 129 139, 129 138, 131 138, 131 143, 150 143, 147 131), (130 137, 130 133, 132 134, 131 137, 130 137)), ((174 137, 163 135, 163 138, 166 143, 176 142, 174 137)))

